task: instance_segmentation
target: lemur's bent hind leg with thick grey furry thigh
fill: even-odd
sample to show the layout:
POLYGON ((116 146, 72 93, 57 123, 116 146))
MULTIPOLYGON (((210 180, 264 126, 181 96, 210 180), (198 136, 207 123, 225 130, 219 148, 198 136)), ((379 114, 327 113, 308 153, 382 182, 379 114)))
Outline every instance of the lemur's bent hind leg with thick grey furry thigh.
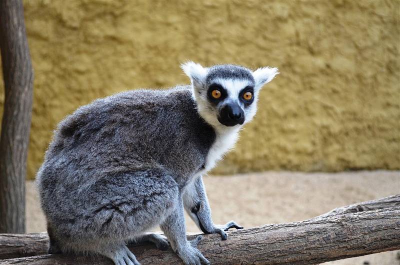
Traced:
POLYGON ((115 265, 139 264, 126 241, 162 222, 180 198, 173 177, 158 168, 104 176, 82 192, 86 208, 79 222, 58 221, 69 235, 59 238, 61 250, 104 255, 115 265))

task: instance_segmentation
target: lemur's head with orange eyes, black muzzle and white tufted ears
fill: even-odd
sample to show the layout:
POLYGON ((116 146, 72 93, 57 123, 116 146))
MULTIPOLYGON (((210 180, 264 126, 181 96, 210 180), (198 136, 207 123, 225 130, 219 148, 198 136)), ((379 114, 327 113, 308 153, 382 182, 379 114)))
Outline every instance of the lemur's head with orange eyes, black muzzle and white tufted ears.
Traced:
POLYGON ((277 68, 255 71, 222 64, 209 68, 192 61, 181 68, 189 76, 197 110, 214 127, 239 127, 255 115, 258 92, 278 73, 277 68))

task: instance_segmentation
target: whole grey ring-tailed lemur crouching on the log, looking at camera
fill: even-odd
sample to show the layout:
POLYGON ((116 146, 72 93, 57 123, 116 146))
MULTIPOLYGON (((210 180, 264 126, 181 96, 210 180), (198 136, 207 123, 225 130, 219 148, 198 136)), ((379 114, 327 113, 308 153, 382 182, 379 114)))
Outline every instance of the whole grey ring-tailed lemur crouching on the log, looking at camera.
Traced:
POLYGON ((133 90, 79 107, 54 132, 37 173, 49 252, 84 252, 139 264, 128 241, 168 246, 185 264, 208 263, 186 240, 183 209, 204 233, 211 220, 201 175, 231 148, 276 68, 182 65, 191 85, 133 90))

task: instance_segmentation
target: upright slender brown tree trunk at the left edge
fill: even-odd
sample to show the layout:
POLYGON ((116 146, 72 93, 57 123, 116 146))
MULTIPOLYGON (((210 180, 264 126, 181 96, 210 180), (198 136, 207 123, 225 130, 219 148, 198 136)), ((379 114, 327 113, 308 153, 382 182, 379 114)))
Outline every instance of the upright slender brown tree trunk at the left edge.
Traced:
POLYGON ((0 0, 0 49, 5 90, 0 135, 0 232, 24 232, 33 72, 22 0, 0 0))

